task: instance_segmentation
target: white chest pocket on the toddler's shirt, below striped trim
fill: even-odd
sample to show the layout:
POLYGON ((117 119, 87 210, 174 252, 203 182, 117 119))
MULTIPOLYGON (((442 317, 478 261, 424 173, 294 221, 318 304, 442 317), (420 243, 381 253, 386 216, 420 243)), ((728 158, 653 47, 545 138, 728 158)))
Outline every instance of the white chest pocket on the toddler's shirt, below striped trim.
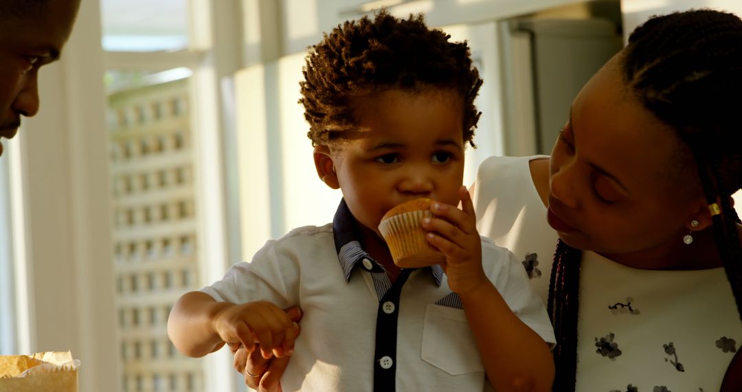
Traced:
POLYGON ((421 351, 425 362, 452 376, 485 371, 464 311, 460 309, 427 305, 421 351))

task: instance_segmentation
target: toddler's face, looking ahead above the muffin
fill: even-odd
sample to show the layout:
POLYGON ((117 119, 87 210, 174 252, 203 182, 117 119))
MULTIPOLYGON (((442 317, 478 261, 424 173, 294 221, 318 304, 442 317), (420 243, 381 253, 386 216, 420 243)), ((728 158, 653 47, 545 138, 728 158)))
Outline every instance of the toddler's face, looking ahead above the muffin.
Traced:
POLYGON ((456 206, 464 175, 462 98, 392 89, 358 99, 358 128, 333 153, 350 211, 378 234, 393 206, 428 197, 456 206))

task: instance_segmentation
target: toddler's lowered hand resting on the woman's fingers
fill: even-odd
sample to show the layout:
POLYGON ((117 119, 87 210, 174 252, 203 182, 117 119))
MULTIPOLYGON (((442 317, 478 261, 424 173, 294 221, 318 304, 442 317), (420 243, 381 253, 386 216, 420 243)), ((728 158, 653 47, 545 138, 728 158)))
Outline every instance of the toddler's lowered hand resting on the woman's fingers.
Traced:
POLYGON ((226 307, 214 316, 213 323, 224 342, 242 344, 249 352, 259 348, 266 359, 291 355, 299 333, 298 324, 268 301, 226 307))

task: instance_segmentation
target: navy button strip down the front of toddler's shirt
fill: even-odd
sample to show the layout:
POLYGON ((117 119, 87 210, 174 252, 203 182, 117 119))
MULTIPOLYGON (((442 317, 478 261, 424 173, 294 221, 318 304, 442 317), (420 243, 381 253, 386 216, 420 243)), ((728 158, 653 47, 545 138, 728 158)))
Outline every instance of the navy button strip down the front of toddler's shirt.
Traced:
POLYGON ((378 302, 376 313, 376 350, 374 353, 373 390, 395 391, 397 364, 397 320, 402 286, 415 269, 401 270, 392 287, 378 302))

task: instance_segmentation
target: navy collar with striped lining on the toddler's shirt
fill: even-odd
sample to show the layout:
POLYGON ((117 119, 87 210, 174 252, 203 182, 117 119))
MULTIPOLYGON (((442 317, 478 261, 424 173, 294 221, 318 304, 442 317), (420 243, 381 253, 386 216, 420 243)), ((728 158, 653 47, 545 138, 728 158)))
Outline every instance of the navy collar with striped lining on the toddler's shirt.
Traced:
MULTIPOLYGON (((348 209, 345 199, 340 201, 335 218, 332 219, 332 237, 335 239, 335 251, 338 252, 338 260, 343 269, 345 281, 350 281, 350 274, 355 267, 361 266, 364 270, 372 273, 384 273, 384 267, 378 264, 371 255, 361 247, 361 231, 358 229, 358 220, 348 209), (368 270, 364 266, 364 259, 371 261, 372 267, 368 270)), ((443 280, 443 268, 438 264, 425 267, 430 270, 437 286, 443 280)))

